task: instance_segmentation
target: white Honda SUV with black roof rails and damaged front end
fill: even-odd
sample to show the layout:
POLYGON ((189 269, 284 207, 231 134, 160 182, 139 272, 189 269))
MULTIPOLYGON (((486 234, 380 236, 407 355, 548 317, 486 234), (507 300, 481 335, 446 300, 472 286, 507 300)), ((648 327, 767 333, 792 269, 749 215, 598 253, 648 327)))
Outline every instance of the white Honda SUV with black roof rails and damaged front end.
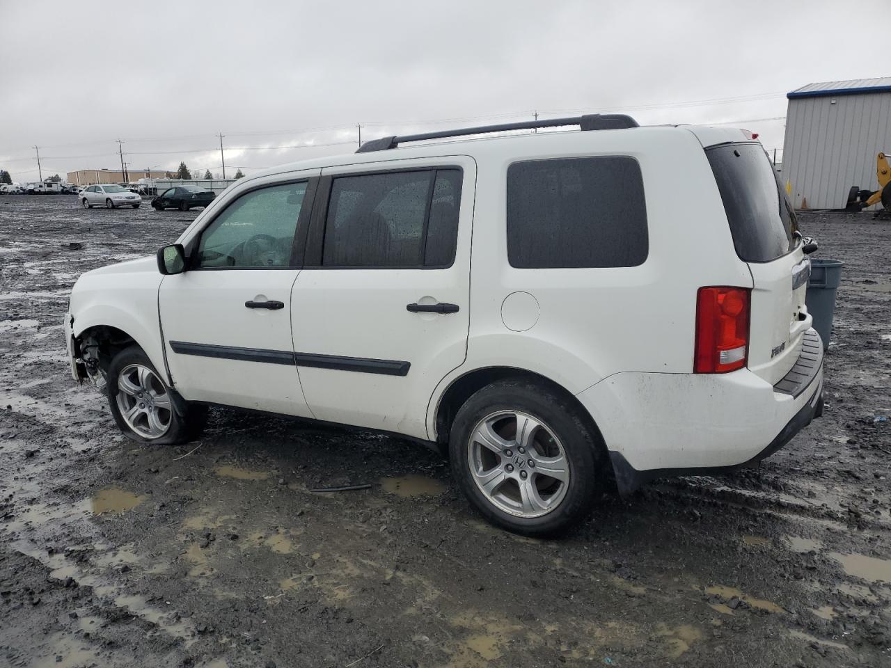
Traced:
POLYGON ((822 412, 813 248, 745 131, 562 118, 245 178, 157 258, 81 276, 65 326, 135 440, 181 443, 208 404, 396 433, 548 534, 822 412))

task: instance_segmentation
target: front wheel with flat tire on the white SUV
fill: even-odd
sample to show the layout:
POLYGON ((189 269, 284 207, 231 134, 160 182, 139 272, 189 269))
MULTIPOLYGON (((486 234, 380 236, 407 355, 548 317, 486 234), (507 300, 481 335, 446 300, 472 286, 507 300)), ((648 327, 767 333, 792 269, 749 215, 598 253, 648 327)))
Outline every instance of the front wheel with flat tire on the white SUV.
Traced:
POLYGON ((120 351, 108 373, 111 414, 124 433, 140 443, 182 444, 198 436, 207 408, 176 399, 139 346, 120 351))

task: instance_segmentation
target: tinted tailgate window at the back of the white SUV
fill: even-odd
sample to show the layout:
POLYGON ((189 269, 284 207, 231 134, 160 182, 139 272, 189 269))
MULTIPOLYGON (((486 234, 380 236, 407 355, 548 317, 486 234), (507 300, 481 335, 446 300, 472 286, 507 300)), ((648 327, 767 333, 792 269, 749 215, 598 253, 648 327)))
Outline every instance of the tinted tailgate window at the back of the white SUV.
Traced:
POLYGON ((722 144, 706 155, 740 259, 770 262, 789 253, 795 214, 761 144, 722 144))

